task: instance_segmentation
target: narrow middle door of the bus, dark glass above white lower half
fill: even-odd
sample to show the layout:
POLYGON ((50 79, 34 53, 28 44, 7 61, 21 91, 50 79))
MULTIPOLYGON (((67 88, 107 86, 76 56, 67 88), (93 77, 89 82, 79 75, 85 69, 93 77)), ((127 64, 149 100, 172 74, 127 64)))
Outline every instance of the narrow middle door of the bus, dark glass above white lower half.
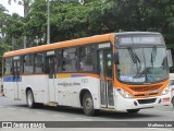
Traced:
POLYGON ((48 99, 49 102, 55 102, 55 56, 49 56, 46 58, 47 73, 48 73, 48 99))

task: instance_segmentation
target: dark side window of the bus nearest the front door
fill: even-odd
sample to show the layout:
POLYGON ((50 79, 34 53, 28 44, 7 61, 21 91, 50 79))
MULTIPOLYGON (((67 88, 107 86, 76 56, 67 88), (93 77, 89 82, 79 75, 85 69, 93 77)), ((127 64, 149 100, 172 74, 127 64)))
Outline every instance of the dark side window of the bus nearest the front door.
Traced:
POLYGON ((79 47, 79 71, 94 71, 96 70, 96 46, 79 47))

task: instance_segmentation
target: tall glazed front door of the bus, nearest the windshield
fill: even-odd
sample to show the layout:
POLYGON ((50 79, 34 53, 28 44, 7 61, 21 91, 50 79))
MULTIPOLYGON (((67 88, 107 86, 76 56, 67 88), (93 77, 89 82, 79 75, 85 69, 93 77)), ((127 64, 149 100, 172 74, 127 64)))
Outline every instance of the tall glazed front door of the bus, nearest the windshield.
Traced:
POLYGON ((113 108, 113 85, 112 85, 112 50, 101 49, 98 51, 99 74, 100 74, 100 104, 104 108, 113 108))

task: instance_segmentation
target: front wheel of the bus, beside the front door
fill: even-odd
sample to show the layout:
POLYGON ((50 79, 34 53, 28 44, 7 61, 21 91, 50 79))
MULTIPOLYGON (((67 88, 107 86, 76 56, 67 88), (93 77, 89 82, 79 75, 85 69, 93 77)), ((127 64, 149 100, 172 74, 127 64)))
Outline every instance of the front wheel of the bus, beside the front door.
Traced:
POLYGON ((95 115, 95 109, 94 109, 94 100, 90 95, 90 93, 85 93, 83 96, 83 109, 85 115, 87 116, 94 116, 95 115))

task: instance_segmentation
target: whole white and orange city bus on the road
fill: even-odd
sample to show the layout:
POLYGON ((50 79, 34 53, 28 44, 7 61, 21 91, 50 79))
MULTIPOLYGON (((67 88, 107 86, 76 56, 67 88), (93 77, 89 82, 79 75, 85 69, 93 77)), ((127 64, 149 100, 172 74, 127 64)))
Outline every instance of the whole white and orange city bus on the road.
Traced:
MULTIPOLYGON (((159 33, 125 32, 32 47, 3 55, 7 97, 97 110, 170 104, 169 66, 159 33)), ((170 58, 170 59, 169 59, 170 58)))

